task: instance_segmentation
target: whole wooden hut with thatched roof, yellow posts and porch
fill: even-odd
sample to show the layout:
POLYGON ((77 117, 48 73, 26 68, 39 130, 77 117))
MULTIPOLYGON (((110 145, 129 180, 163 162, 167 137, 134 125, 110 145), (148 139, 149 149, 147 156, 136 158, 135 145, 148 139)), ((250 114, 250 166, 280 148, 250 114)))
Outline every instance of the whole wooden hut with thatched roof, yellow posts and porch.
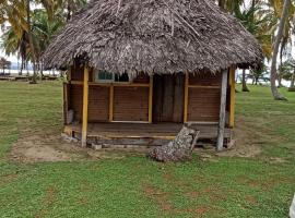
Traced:
POLYGON ((219 149, 232 138, 235 69, 262 59, 213 0, 92 0, 44 55, 46 68, 69 70, 64 132, 83 145, 158 145, 193 123, 219 149))

